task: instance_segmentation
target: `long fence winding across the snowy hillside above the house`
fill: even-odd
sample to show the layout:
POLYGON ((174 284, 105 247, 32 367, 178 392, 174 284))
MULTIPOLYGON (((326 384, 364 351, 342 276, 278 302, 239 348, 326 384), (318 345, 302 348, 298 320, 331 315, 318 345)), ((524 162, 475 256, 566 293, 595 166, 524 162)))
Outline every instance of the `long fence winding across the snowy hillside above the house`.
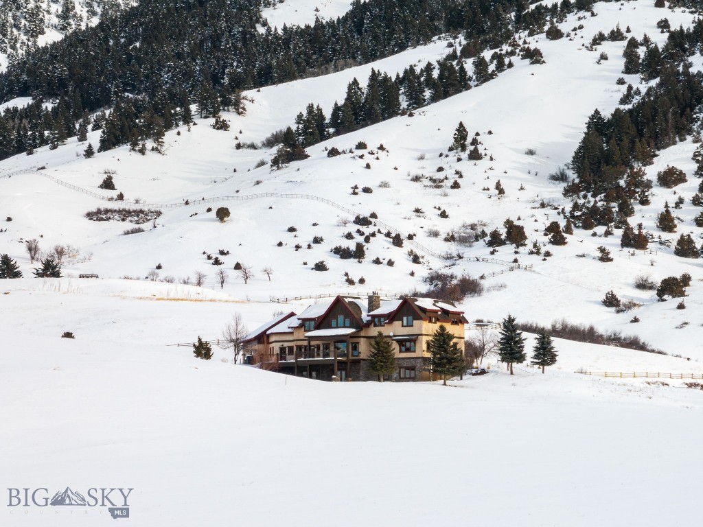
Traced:
MULTIPOLYGON (((25 169, 25 170, 14 171, 14 172, 11 172, 10 174, 4 174, 4 175, 0 176, 0 179, 11 178, 13 176, 19 176, 22 174, 38 174, 39 176, 44 176, 45 178, 49 179, 50 181, 53 181, 53 183, 57 183, 60 186, 63 186, 65 188, 69 188, 70 190, 75 190, 76 192, 80 192, 85 195, 89 195, 90 197, 94 197, 97 200, 103 200, 106 202, 119 204, 120 207, 124 207, 124 208, 133 208, 134 207, 134 208, 140 208, 140 209, 174 209, 177 207, 188 207, 193 204, 226 202, 226 201, 259 200, 264 197, 277 197, 277 198, 290 199, 290 200, 311 200, 311 201, 321 202, 321 203, 329 205, 330 207, 334 207, 335 209, 338 209, 342 212, 346 212, 349 215, 363 216, 363 214, 360 214, 359 212, 356 212, 352 209, 349 209, 348 207, 344 207, 343 205, 340 205, 338 203, 335 203, 332 200, 328 200, 325 197, 319 197, 319 196, 311 195, 311 194, 287 194, 287 193, 263 192, 263 193, 236 195, 236 196, 216 196, 216 197, 208 197, 208 198, 202 197, 200 200, 195 200, 193 202, 191 202, 190 200, 183 200, 183 202, 181 202, 181 203, 146 203, 146 202, 142 202, 141 200, 115 200, 114 197, 104 196, 104 195, 92 192, 91 190, 87 190, 86 188, 82 188, 82 187, 79 187, 76 185, 72 185, 71 183, 67 183, 65 181, 62 181, 58 178, 55 178, 54 176, 46 174, 46 172, 43 172, 39 169, 35 169, 35 170, 25 169)), ((380 228, 382 230, 386 230, 387 233, 389 232, 392 235, 399 234, 404 238, 406 237, 406 234, 402 233, 400 230, 396 229, 395 227, 390 226, 387 223, 384 223, 383 221, 375 220, 373 222, 373 226, 380 228)), ((429 254, 430 256, 433 256, 434 258, 437 258, 440 260, 472 261, 472 259, 470 259, 470 257, 463 256, 461 254, 452 254, 449 251, 444 252, 444 253, 439 253, 437 251, 433 251, 432 249, 425 247, 425 245, 422 245, 419 242, 416 242, 415 240, 408 240, 407 238, 405 238, 404 245, 405 244, 410 245, 414 249, 418 249, 421 252, 423 252, 425 254, 429 254)), ((516 269, 522 269, 524 271, 531 271, 532 270, 531 265, 530 266, 520 266, 515 263, 509 262, 506 260, 497 259, 497 258, 485 258, 485 257, 474 256, 474 259, 475 259, 475 261, 481 261, 484 263, 493 263, 495 265, 505 266, 508 268, 506 271, 515 271, 516 269)), ((498 274, 502 274, 502 272, 498 273, 498 274)), ((496 275, 496 273, 491 273, 491 275, 484 275, 484 278, 490 278, 490 276, 494 276, 494 275, 496 275)))

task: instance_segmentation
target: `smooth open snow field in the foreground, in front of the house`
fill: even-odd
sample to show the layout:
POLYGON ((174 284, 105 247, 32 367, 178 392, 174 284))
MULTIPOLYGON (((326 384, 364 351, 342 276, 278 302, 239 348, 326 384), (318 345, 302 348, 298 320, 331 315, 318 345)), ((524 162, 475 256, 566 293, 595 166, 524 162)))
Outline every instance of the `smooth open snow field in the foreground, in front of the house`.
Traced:
MULTIPOLYGON (((139 527, 302 526, 309 516, 291 512, 301 503, 337 526, 467 515, 486 526, 656 526, 695 513, 700 486, 683 475, 702 468, 691 455, 701 392, 573 373, 640 360, 682 370, 685 360, 557 340, 545 375, 493 369, 447 388, 322 383, 223 363, 231 354, 217 347, 205 362, 168 345, 214 337, 234 311, 266 318, 268 304, 138 298, 172 287, 153 282, 24 281, 0 295, 15 350, 0 353, 6 487, 49 498, 67 486, 84 496, 134 488, 139 527), (657 500, 643 500, 652 488, 657 500), (408 489, 422 499, 408 504, 408 489)), ((101 507, 49 509, 56 526, 111 521, 101 507)), ((1 507, 0 522, 46 523, 42 509, 25 510, 1 507)))

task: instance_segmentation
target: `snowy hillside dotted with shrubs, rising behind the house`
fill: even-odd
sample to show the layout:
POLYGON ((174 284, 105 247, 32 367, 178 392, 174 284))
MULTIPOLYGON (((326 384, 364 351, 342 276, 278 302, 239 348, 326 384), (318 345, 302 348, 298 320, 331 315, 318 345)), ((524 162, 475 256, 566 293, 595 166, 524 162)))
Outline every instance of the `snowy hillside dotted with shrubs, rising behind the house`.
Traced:
MULTIPOLYGON (((143 278, 160 263, 161 279, 172 276, 176 280, 186 277, 192 280, 197 270, 208 275, 210 287, 219 287, 214 278, 217 267, 210 265, 203 252, 217 255, 219 249, 224 249, 230 251, 230 255, 222 258, 230 275, 224 291, 234 297, 259 300, 358 289, 406 292, 423 287, 420 279, 430 268, 447 265, 429 253, 424 265, 415 265, 407 254, 411 245, 406 243, 402 249, 392 247, 390 240, 382 235, 367 245, 365 263, 338 259, 330 253, 332 247, 354 247, 355 241, 362 241, 354 233, 358 227, 348 223, 354 214, 333 205, 338 204, 362 215, 376 212, 378 221, 401 233, 414 233, 416 242, 434 252, 460 252, 466 259, 451 263, 451 271, 455 273, 479 276, 505 269, 494 263, 477 262, 481 257, 503 261, 516 258, 523 266, 532 266, 531 272, 512 271, 486 280, 489 289, 486 294, 465 302, 470 318, 498 320, 508 311, 522 320, 540 323, 565 317, 579 323, 594 323, 602 330, 636 333, 669 353, 702 358, 690 344, 697 332, 694 321, 702 309, 697 292, 697 261, 679 259, 673 256, 672 249, 653 245, 652 254, 630 256, 619 248, 619 233, 602 238, 602 228, 595 231, 598 237, 577 230, 566 247, 546 247, 554 253, 546 260, 542 256, 529 256, 527 248, 513 254, 512 249, 503 247, 491 256, 490 249, 482 244, 461 247, 442 241, 444 235, 458 230, 463 223, 484 222, 482 225, 490 230, 501 226, 507 218, 522 221, 530 245, 534 240, 545 240, 543 229, 559 216, 552 207, 541 208, 541 202, 555 207, 569 206, 561 197, 562 187, 549 181, 548 174, 569 161, 581 138, 583 122, 593 109, 609 114, 623 91, 615 81, 621 77, 624 42, 605 42, 599 46, 598 52, 606 51, 610 56, 610 60, 600 64, 596 63, 598 52, 588 51, 583 45, 595 32, 607 32, 617 23, 628 25, 633 35, 641 37, 647 33, 662 43, 666 34, 656 30, 662 13, 672 25, 686 26, 693 16, 685 11, 663 12, 644 2, 622 7, 597 4, 595 12, 596 17, 581 21, 569 18, 562 24, 565 32, 576 22, 583 24, 583 30, 577 31, 573 39, 527 38, 530 44, 543 50, 545 65, 515 60, 515 67, 483 86, 423 108, 414 117, 397 117, 315 145, 308 149, 309 160, 280 171, 271 171, 267 164, 254 168, 257 162, 268 162, 273 150, 237 150, 236 143, 259 143, 272 131, 292 124, 297 112, 311 101, 320 103, 328 112, 334 100, 344 98, 350 79, 357 77, 363 84, 371 67, 394 74, 410 64, 422 65, 439 58, 446 49, 446 41, 337 74, 247 93, 245 115, 226 115, 231 121, 231 131, 215 131, 208 126, 211 121, 198 119, 198 126, 191 131, 181 128, 167 134, 163 156, 149 152, 143 157, 125 147, 86 160, 82 159, 85 144, 79 145, 72 139, 58 150, 44 148, 33 156, 13 157, 1 164, 5 174, 46 167, 43 172, 60 181, 108 197, 115 192, 97 186, 105 176, 103 171, 111 170, 116 172, 117 190, 127 200, 140 198, 155 204, 183 204, 188 200, 190 205, 161 207, 164 214, 156 221, 156 228, 146 223, 143 227, 147 232, 124 236, 122 232, 133 225, 96 223, 83 217, 95 207, 117 203, 96 200, 43 176, 20 174, 0 179, 2 216, 13 217, 12 222, 4 225, 7 232, 0 235, 0 251, 18 259, 25 275, 30 274, 32 266, 21 242, 37 238, 44 250, 58 243, 79 249, 76 258, 65 262, 65 272, 69 274, 95 272, 110 278, 143 278), (456 157, 439 157, 447 153, 460 120, 470 134, 481 134, 484 153, 493 155, 494 162, 474 163, 466 159, 456 162, 456 157), (352 148, 358 141, 366 141, 375 153, 357 151, 354 155, 326 156, 325 150, 332 146, 352 148), (376 148, 381 144, 385 145, 385 151, 376 148), (528 148, 534 148, 536 155, 525 155, 528 148), (361 154, 363 159, 359 158, 361 154), (367 162, 370 169, 365 168, 367 162), (444 172, 438 173, 439 167, 444 172), (463 177, 458 178, 455 170, 461 171, 463 177), (426 177, 420 182, 411 181, 417 174, 426 177), (427 176, 439 178, 444 174, 449 175, 444 188, 427 187, 427 176), (449 183, 455 178, 460 188, 450 189, 449 183), (498 179, 506 189, 500 199, 494 191, 498 179), (354 185, 368 186, 373 193, 352 195, 354 185), (524 190, 519 190, 521 186, 524 190), (333 204, 274 196, 226 200, 226 197, 260 193, 312 195, 333 204), (224 201, 198 204, 203 198, 224 201), (222 205, 232 212, 231 219, 224 224, 214 219, 214 210, 206 212, 207 207, 216 209, 222 205), (416 207, 423 214, 415 214, 416 207), (439 218, 434 207, 446 209, 449 218, 439 218), (317 225, 313 226, 314 223, 317 225), (291 226, 297 232, 289 233, 291 226), (349 232, 354 240, 342 237, 349 232), (432 238, 434 233, 439 233, 439 237, 432 238), (321 236, 324 242, 307 249, 314 236, 321 236), (283 247, 277 247, 278 242, 283 247), (296 251, 296 245, 302 248, 296 251), (612 251, 614 262, 600 263, 595 259, 598 254, 595 249, 601 245, 612 251), (370 261, 376 257, 384 262, 392 259, 396 264, 393 268, 373 265, 370 261), (311 266, 321 260, 327 261, 330 271, 311 271, 311 266), (254 278, 246 285, 232 269, 237 261, 254 270, 254 278), (264 266, 273 269, 271 280, 259 271, 264 266), (354 280, 363 277, 366 283, 363 287, 347 286, 345 271, 354 280), (414 278, 409 275, 411 271, 414 278), (633 287, 637 275, 650 275, 658 281, 684 272, 693 276, 685 310, 677 310, 676 302, 657 303, 653 294, 633 287), (629 320, 634 313, 615 314, 600 304, 610 289, 623 299, 643 304, 637 311, 642 323, 632 325, 629 320)), ((628 82, 638 83, 634 76, 625 77, 628 82)), ((93 145, 98 144, 98 135, 99 132, 89 134, 93 145)), ((657 162, 647 167, 648 176, 654 178, 666 164, 676 164, 690 174, 694 148, 688 141, 661 152, 657 162)), ((688 183, 675 190, 689 196, 695 192, 695 186, 695 180, 689 177, 688 183)), ((665 200, 673 202, 675 197, 672 190, 657 187, 652 194, 652 204, 638 207, 636 219, 647 230, 657 233, 655 216, 665 200)), ((686 220, 685 229, 699 236, 701 230, 690 223, 693 210, 682 209, 680 213, 686 220)), ((418 252, 424 254, 422 250, 418 252)), ((253 320, 252 325, 263 321, 253 320)))

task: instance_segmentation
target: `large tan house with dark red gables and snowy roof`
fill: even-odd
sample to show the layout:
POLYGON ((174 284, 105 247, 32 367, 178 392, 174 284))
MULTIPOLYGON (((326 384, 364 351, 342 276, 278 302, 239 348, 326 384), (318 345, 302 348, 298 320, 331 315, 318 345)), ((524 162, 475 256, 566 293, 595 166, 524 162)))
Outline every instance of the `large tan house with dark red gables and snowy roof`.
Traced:
POLYGON ((278 371, 332 380, 377 380, 368 369, 373 338, 382 332, 393 341, 398 370, 392 380, 429 379, 426 361, 430 340, 439 325, 454 335, 459 349, 464 346, 463 311, 453 302, 406 297, 382 300, 370 294, 335 297, 314 304, 296 315, 288 313, 262 325, 244 339, 246 353, 254 362, 278 371))

